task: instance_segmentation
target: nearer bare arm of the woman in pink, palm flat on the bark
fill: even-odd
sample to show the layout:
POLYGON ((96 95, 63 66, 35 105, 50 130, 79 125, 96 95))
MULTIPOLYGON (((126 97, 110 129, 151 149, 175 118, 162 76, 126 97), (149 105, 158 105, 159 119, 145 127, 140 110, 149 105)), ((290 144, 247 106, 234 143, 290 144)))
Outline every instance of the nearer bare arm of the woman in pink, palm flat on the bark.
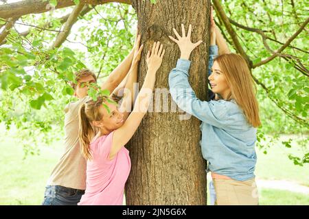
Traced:
POLYGON ((148 71, 145 77, 141 91, 137 96, 133 112, 128 116, 128 119, 122 127, 117 129, 113 135, 113 142, 111 151, 109 153, 109 159, 113 159, 118 151, 124 146, 139 127, 141 120, 148 110, 152 98, 152 90, 155 86, 155 77, 157 70, 161 66, 162 58, 165 53, 163 47, 159 48, 159 42, 152 47, 152 51, 148 51, 147 54, 147 65, 148 71))

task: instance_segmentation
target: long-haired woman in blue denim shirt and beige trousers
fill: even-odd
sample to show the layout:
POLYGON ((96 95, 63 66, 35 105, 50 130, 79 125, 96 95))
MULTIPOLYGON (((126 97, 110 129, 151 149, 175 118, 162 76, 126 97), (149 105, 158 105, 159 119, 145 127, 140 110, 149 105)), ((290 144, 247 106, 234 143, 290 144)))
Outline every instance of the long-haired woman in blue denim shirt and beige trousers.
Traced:
POLYGON ((184 25, 181 29, 183 36, 174 29, 178 40, 170 36, 181 50, 181 58, 169 75, 170 93, 181 110, 202 121, 201 148, 214 181, 215 205, 258 205, 254 170, 260 117, 247 62, 241 55, 229 53, 211 15, 208 79, 216 96, 201 101, 188 77, 190 54, 202 41, 191 42, 191 25, 187 36, 184 25))

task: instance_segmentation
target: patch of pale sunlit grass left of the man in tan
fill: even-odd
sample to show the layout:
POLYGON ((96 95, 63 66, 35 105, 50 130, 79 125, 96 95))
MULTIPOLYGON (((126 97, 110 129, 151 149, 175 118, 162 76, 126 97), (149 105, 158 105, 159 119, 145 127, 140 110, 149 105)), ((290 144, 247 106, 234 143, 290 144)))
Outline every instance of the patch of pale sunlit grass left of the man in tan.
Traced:
POLYGON ((41 205, 45 184, 59 155, 51 148, 23 160, 23 149, 12 140, 0 144, 0 205, 41 205))

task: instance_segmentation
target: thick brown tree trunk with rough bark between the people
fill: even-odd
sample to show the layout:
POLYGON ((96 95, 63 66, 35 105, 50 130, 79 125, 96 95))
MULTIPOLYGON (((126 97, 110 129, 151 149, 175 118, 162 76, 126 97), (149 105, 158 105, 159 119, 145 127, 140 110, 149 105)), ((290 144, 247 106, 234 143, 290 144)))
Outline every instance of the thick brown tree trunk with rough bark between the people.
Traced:
MULTIPOLYGON (((168 87, 168 75, 180 57, 179 47, 168 36, 174 27, 181 34, 192 24, 192 42, 203 40, 191 54, 190 84, 198 98, 207 99, 207 54, 209 47, 210 0, 150 1, 133 0, 144 52, 139 66, 139 88, 146 76, 146 54, 153 42, 165 48, 163 64, 155 88, 168 87)), ((176 38, 174 36, 174 38, 176 38)), ((126 183, 127 205, 206 205, 205 161, 201 153, 201 122, 183 112, 173 112, 175 103, 168 94, 167 109, 156 90, 153 105, 128 143, 132 169, 126 183), (161 101, 161 103, 160 103, 161 101), (171 109, 172 108, 172 109, 171 109), (163 112, 163 110, 168 112, 163 112), (158 112, 159 111, 159 112, 158 112)))

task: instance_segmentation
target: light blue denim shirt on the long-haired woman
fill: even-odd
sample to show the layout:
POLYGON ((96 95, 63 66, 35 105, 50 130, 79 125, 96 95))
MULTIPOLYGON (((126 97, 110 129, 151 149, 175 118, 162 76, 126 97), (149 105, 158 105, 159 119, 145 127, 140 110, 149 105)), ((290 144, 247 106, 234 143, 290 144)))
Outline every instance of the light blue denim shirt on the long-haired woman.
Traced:
MULTIPOLYGON (((218 47, 209 49, 209 66, 218 47)), ((201 148, 211 172, 244 181, 255 177, 256 129, 250 125, 235 101, 201 101, 188 81, 189 60, 179 59, 168 82, 172 99, 181 110, 202 121, 201 148)))

